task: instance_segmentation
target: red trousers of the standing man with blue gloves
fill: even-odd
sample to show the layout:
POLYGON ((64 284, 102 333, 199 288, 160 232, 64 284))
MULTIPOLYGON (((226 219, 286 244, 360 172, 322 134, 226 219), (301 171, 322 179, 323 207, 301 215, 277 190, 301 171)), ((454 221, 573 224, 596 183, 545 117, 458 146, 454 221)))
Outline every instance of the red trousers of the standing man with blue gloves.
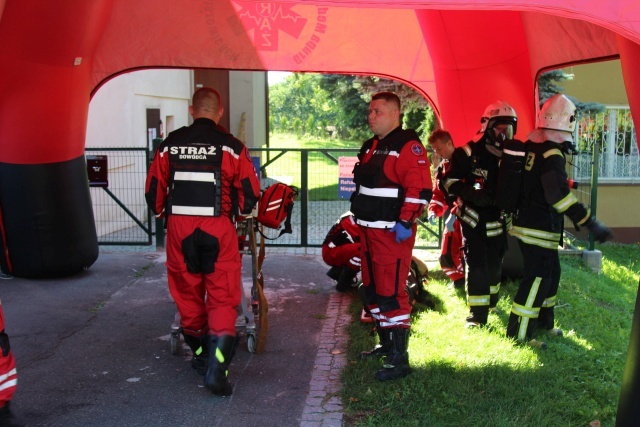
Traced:
POLYGON ((360 227, 365 304, 381 328, 411 327, 405 285, 415 236, 415 225, 411 237, 400 243, 396 243, 396 235, 390 230, 360 227))

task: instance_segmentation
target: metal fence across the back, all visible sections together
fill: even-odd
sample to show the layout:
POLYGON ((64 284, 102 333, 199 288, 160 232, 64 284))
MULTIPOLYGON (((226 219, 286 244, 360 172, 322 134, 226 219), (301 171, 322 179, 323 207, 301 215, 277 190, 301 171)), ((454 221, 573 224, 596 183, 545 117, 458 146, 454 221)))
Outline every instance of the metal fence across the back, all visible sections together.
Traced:
MULTIPOLYGON (((144 199, 149 164, 146 148, 87 148, 87 154, 105 155, 108 186, 92 187, 91 199, 100 245, 151 245, 155 221, 144 199)), ((259 159, 261 187, 275 181, 299 188, 292 216, 292 234, 269 241, 270 246, 320 247, 340 215, 349 210, 348 193, 339 195, 339 159, 353 158, 355 149, 250 149, 259 159), (346 194, 346 195, 345 195, 346 194)), ((439 226, 419 223, 417 248, 440 244, 439 226)), ((266 230, 276 237, 275 230, 266 230)))

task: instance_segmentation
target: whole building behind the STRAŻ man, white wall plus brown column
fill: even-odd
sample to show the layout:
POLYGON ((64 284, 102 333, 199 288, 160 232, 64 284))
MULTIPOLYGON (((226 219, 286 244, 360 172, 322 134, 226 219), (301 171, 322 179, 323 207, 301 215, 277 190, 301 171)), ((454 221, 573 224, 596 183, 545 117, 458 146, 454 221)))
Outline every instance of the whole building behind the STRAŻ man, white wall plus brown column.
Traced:
MULTIPOLYGON (((141 70, 105 83, 89 104, 87 148, 137 147, 152 151, 147 109, 160 110, 163 135, 191 124, 189 105, 195 89, 212 86, 223 97, 220 124, 237 135, 245 112, 245 140, 250 147, 266 141, 266 73, 226 70, 141 70)), ((156 119, 157 120, 157 119, 156 119)), ((157 124, 157 123, 156 123, 157 124)), ((154 126, 156 125, 154 124, 154 126)), ((109 190, 136 218, 144 222, 147 207, 144 181, 147 164, 140 152, 89 152, 106 155, 109 190)), ((138 228, 102 188, 91 188, 96 231, 104 241, 138 228)))

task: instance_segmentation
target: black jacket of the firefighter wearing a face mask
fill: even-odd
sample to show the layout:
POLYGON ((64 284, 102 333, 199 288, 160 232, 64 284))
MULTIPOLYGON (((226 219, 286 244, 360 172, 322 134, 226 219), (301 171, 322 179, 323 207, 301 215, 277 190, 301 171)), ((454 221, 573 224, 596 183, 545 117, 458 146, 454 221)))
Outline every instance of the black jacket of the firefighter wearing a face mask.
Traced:
POLYGON ((485 143, 485 138, 453 151, 444 176, 444 189, 462 200, 455 215, 472 228, 483 224, 491 237, 502 233, 500 209, 495 205, 501 153, 485 143))

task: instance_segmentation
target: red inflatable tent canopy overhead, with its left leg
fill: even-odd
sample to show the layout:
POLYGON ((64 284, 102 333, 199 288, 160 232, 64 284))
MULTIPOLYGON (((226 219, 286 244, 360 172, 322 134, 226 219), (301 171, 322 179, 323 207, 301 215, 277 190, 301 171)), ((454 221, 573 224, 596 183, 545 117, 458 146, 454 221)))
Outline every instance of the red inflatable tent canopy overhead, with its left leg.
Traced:
MULTIPOLYGON (((84 217, 78 209, 92 217, 88 191, 70 197, 59 168, 84 160, 92 93, 133 69, 390 77, 420 90, 462 144, 497 99, 516 108, 519 136, 526 136, 541 70, 620 57, 640 120, 640 83, 632 78, 640 65, 637 0, 0 0, 0 41, 0 207, 9 249, 16 241, 9 224, 24 229, 25 219, 42 246, 41 234, 57 221, 37 212, 62 204, 69 206, 65 220, 84 217), (25 194, 39 196, 25 201, 25 194)), ((69 182, 83 181, 84 171, 74 168, 82 175, 69 182)), ((92 227, 89 221, 79 233, 92 227)), ((9 252, 12 261, 30 256, 9 252)))

